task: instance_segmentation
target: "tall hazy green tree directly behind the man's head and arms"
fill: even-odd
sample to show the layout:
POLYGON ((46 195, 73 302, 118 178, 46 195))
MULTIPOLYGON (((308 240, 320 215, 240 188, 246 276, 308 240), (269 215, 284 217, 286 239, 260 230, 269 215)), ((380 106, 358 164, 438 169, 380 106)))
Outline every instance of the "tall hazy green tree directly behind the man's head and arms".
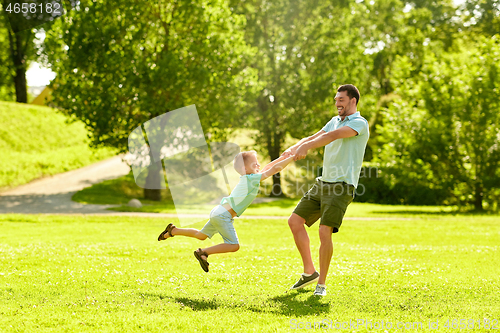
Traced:
MULTIPOLYGON (((367 91, 369 57, 353 38, 360 34, 358 16, 344 2, 247 0, 233 7, 246 16, 246 40, 258 50, 252 67, 259 91, 249 124, 274 160, 287 135, 312 135, 335 115, 336 86, 349 82, 367 91)), ((282 194, 276 174, 271 195, 282 194)))

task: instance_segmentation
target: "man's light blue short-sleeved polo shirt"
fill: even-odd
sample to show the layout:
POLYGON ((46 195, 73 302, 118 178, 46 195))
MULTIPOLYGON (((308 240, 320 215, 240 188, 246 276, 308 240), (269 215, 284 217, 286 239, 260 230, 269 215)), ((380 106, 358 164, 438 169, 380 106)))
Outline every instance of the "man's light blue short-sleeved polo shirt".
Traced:
POLYGON ((339 116, 333 117, 323 127, 323 131, 331 132, 343 126, 349 126, 358 135, 337 139, 326 145, 321 180, 330 183, 346 182, 357 188, 370 130, 366 119, 356 112, 344 120, 339 116))

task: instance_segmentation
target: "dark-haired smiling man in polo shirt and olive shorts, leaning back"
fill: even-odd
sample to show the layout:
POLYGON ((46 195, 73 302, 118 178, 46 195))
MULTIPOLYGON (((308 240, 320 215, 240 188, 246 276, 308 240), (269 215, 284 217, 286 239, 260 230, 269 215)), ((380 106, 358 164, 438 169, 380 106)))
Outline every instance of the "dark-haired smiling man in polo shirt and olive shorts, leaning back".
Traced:
POLYGON ((352 84, 340 86, 335 96, 338 116, 333 117, 321 131, 300 140, 287 149, 284 156, 294 160, 306 157, 308 150, 325 147, 323 174, 302 197, 288 219, 295 245, 304 265, 304 273, 292 289, 318 282, 314 295, 326 295, 326 276, 333 254, 332 233, 338 232, 347 206, 358 186, 366 143, 370 136, 368 122, 357 111, 359 91, 352 84), (311 258, 310 227, 321 217, 319 226, 319 273, 311 258))

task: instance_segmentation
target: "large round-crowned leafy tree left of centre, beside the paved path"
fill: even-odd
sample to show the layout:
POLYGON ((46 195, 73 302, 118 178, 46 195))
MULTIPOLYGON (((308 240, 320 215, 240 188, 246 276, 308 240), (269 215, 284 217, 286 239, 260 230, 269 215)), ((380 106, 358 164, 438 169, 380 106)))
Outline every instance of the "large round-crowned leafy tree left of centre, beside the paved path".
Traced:
POLYGON ((126 151, 137 126, 190 104, 207 138, 223 139, 252 87, 243 24, 222 0, 81 1, 45 39, 54 104, 87 124, 95 146, 126 151))

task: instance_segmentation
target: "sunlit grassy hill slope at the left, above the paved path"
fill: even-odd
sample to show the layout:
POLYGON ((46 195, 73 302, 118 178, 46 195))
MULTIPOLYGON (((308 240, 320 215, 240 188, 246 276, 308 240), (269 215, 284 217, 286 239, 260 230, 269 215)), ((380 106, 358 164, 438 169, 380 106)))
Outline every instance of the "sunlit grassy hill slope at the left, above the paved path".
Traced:
POLYGON ((2 190, 116 154, 89 148, 84 124, 48 107, 0 102, 0 124, 2 190))

